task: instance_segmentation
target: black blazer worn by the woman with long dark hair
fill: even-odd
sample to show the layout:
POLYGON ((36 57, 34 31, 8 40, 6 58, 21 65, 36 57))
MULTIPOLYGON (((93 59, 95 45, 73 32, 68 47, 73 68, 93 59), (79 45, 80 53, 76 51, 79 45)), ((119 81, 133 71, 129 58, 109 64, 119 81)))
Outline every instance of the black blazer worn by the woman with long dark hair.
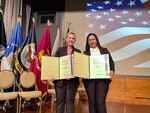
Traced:
MULTIPOLYGON (((104 48, 104 47, 100 47, 99 50, 100 50, 100 54, 109 54, 110 70, 111 71, 115 71, 115 64, 114 64, 114 61, 113 61, 113 59, 112 59, 112 57, 111 57, 110 52, 108 51, 108 49, 104 48)), ((84 51, 84 54, 90 56, 91 55, 90 50, 89 51, 84 51)), ((83 82, 85 82, 85 81, 88 82, 89 80, 90 79, 82 79, 83 82)), ((92 80, 94 80, 94 79, 92 79, 92 80)), ((102 79, 102 80, 110 81, 109 79, 102 79)))

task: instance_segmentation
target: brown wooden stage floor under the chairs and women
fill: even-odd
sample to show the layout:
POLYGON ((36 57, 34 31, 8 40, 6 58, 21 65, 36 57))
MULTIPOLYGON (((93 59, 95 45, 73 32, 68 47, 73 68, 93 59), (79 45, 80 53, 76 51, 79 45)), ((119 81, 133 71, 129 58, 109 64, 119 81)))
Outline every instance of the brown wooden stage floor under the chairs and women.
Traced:
MULTIPOLYGON (((53 112, 51 112, 50 100, 47 100, 43 105, 42 113, 56 113, 55 103, 53 108, 53 112)), ((38 110, 39 108, 36 106, 28 106, 22 111, 22 113, 39 113, 38 110)), ((7 110, 7 113, 13 112, 12 109, 7 110)), ((0 113, 3 113, 3 111, 0 111, 0 113)), ((87 100, 79 101, 76 99, 75 113, 89 113, 87 100)), ((107 102, 107 113, 150 113, 150 106, 107 102)))

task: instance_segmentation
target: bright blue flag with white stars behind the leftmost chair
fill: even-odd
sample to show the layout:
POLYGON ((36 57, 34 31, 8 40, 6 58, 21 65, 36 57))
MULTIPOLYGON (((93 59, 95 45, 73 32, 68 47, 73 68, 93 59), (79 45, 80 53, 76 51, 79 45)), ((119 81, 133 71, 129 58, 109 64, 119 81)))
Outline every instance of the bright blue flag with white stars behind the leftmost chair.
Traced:
POLYGON ((15 56, 16 53, 19 51, 22 42, 23 42, 23 35, 19 21, 12 32, 7 48, 3 54, 3 58, 1 61, 1 70, 13 71, 15 65, 15 56))

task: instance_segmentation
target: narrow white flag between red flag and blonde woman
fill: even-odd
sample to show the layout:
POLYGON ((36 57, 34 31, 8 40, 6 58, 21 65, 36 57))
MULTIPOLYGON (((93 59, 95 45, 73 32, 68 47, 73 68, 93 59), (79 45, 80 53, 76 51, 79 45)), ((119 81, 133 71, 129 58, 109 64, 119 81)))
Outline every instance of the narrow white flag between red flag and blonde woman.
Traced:
POLYGON ((56 51, 58 50, 60 46, 60 34, 59 34, 59 27, 57 28, 57 34, 56 34, 56 38, 55 38, 55 42, 54 42, 54 46, 52 49, 52 54, 51 56, 54 56, 56 51))

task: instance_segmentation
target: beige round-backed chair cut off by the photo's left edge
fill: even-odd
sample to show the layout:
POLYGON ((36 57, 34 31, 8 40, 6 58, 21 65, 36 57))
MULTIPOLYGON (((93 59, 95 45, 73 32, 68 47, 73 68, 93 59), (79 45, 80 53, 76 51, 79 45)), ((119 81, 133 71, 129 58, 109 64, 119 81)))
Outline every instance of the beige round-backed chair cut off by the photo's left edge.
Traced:
MULTIPOLYGON (((10 100, 16 100, 16 108, 15 111, 18 113, 18 92, 15 92, 15 75, 12 71, 0 71, 0 101, 4 101, 5 103, 9 103, 10 100), (13 91, 4 92, 4 89, 11 88, 13 91)), ((15 101, 14 101, 15 102, 15 101)), ((2 107, 2 109, 6 112, 7 105, 2 107)))

